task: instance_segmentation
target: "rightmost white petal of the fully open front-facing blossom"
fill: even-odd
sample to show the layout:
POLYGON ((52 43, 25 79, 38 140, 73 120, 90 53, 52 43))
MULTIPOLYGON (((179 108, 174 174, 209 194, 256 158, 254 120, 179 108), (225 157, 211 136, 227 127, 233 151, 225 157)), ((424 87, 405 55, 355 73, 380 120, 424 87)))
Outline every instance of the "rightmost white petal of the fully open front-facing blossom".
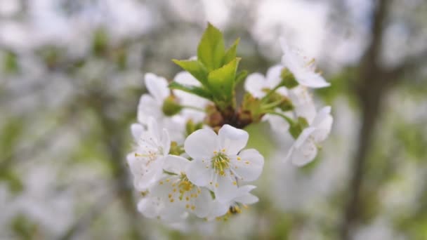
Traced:
POLYGON ((258 179, 263 171, 264 157, 256 149, 245 149, 237 158, 232 158, 232 170, 244 182, 258 179))

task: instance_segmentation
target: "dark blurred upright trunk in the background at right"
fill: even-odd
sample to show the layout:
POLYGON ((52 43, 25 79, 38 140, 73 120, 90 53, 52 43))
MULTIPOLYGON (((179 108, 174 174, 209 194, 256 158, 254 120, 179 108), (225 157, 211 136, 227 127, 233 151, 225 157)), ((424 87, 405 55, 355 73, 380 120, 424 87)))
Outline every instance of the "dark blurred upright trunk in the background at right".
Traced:
POLYGON ((372 41, 362 58, 360 64, 360 75, 357 88, 362 110, 362 128, 358 136, 357 153, 353 159, 353 172, 350 173, 350 183, 348 191, 348 201, 344 206, 343 222, 340 229, 341 239, 350 239, 350 231, 362 209, 360 202, 360 193, 364 179, 364 168, 367 162, 367 156, 372 146, 374 129, 380 113, 381 99, 386 92, 383 74, 379 67, 378 60, 381 52, 383 39, 383 25, 386 20, 387 8, 390 1, 377 1, 374 10, 371 36, 372 41))

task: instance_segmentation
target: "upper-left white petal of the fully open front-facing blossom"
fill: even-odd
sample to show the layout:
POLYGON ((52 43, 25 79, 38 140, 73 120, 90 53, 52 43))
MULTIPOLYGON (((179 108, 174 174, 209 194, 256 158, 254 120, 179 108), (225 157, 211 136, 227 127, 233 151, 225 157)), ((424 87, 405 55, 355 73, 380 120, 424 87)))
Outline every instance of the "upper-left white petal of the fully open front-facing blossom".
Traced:
POLYGON ((218 135, 211 129, 199 129, 187 137, 184 149, 193 159, 209 160, 219 149, 218 135))

